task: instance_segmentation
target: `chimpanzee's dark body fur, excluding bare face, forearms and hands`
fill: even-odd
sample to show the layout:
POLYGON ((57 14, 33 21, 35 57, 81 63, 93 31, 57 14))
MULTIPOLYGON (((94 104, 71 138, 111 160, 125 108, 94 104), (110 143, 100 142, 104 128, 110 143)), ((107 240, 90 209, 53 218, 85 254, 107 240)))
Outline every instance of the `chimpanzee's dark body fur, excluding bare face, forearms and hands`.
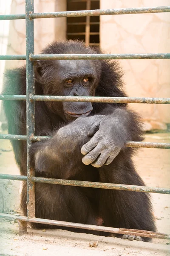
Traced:
MULTIPOLYGON (((99 51, 99 50, 98 50, 99 51)), ((100 51, 99 51, 100 52, 100 51)), ((43 54, 60 53, 96 53, 94 49, 85 47, 81 42, 54 42, 44 49, 43 54)), ((45 82, 35 81, 36 95, 68 95, 59 90, 54 82, 52 71, 57 61, 41 61, 45 82)), ((95 96, 127 96, 122 90, 122 72, 115 61, 95 60, 90 64, 96 70, 94 84, 95 96)), ((56 72, 57 71, 57 67, 56 72)), ((38 70, 38 69, 37 69, 38 70)), ((94 89, 94 88, 93 88, 94 89)), ((26 68, 21 67, 6 71, 4 94, 26 94, 26 68)), ((93 92, 89 92, 92 95, 93 92)), ((141 141, 143 133, 136 113, 129 111, 126 104, 93 103, 91 115, 115 114, 122 124, 120 134, 125 141, 141 141)), ((26 135, 26 102, 4 101, 4 109, 8 120, 9 134, 26 135)), ((56 133, 59 126, 67 125, 71 119, 63 115, 62 102, 35 102, 35 134, 45 136, 56 133)), ((90 138, 87 137, 87 141, 90 138)), ((87 142, 86 141, 86 142, 87 142)), ((43 150, 44 143, 37 142, 31 149, 33 165, 34 153, 43 150)), ((38 177, 64 178, 71 180, 87 180, 106 183, 120 183, 144 186, 132 162, 133 149, 124 147, 108 166, 99 169, 85 166, 81 159, 80 148, 85 143, 79 143, 77 151, 63 155, 60 165, 56 166, 50 156, 44 159, 47 171, 36 169, 38 177)), ((20 167, 21 175, 26 175, 26 142, 13 140, 15 159, 20 167)), ((43 156, 44 157, 44 156, 43 156)), ((23 185, 21 208, 26 215, 26 184, 23 185)), ((122 227, 139 230, 155 231, 150 197, 143 192, 129 192, 111 189, 93 189, 74 186, 36 183, 36 217, 60 221, 71 221, 85 224, 96 224, 108 227, 122 227)), ((34 224, 40 227, 40 224, 34 224)), ((45 225, 41 225, 46 227, 45 225)), ((47 227, 49 227, 47 225, 47 227)), ((56 226, 54 226, 56 227, 56 226)), ((80 231, 80 230, 78 230, 80 231)), ((91 232, 91 231, 89 231, 91 232)), ((99 233, 97 233, 99 234, 99 233)), ((146 239, 146 241, 149 239, 146 239)))

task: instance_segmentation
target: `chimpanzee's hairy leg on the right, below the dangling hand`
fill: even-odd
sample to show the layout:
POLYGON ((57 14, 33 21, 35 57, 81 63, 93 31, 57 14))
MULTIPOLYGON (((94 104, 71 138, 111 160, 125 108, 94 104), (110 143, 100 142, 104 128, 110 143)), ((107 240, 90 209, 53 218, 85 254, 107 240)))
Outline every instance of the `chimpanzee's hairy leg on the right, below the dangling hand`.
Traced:
MULTIPOLYGON (((121 152, 122 153, 122 152, 121 152)), ((118 155, 109 166, 99 169, 100 182, 145 186, 133 163, 118 155)), ((100 189, 99 211, 108 227, 156 231, 150 196, 144 192, 100 189)), ((143 241, 149 241, 143 238, 143 241)))

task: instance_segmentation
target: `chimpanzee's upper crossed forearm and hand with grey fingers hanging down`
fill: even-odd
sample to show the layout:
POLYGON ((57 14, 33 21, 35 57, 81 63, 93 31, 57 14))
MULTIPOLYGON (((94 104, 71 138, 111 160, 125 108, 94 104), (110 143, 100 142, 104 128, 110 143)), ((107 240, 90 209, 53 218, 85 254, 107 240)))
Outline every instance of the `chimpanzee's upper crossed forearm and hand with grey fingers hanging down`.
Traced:
POLYGON ((137 121, 139 116, 126 106, 115 108, 106 105, 100 114, 105 117, 99 124, 94 124, 89 131, 94 136, 81 148, 81 153, 85 155, 82 162, 94 167, 110 164, 124 148, 125 142, 143 140, 142 127, 137 121))

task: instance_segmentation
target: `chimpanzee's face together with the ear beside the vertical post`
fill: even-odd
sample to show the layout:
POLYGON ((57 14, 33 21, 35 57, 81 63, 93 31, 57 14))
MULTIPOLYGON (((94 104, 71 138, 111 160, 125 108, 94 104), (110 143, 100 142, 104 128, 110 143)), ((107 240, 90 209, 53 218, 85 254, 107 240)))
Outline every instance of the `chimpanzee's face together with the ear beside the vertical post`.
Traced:
MULTIPOLYGON (((44 94, 94 96, 99 81, 96 63, 88 60, 58 60, 49 64, 41 70, 44 94)), ((58 112, 59 102, 55 103, 53 102, 51 107, 53 112, 58 112)), ((88 116, 93 107, 91 102, 61 102, 59 110, 60 116, 64 115, 65 119, 74 120, 81 115, 88 116)))

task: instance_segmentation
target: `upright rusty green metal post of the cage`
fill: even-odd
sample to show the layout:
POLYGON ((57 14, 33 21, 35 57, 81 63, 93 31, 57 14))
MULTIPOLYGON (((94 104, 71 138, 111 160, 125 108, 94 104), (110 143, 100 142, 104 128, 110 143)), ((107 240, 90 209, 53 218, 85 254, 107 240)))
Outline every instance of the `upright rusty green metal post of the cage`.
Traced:
POLYGON ((31 137, 35 131, 35 105, 31 100, 34 95, 34 61, 29 60, 29 55, 34 54, 34 19, 29 15, 34 13, 34 0, 26 0, 26 130, 27 130, 27 219, 35 217, 35 183, 30 180, 34 170, 30 169, 29 150, 31 137))

